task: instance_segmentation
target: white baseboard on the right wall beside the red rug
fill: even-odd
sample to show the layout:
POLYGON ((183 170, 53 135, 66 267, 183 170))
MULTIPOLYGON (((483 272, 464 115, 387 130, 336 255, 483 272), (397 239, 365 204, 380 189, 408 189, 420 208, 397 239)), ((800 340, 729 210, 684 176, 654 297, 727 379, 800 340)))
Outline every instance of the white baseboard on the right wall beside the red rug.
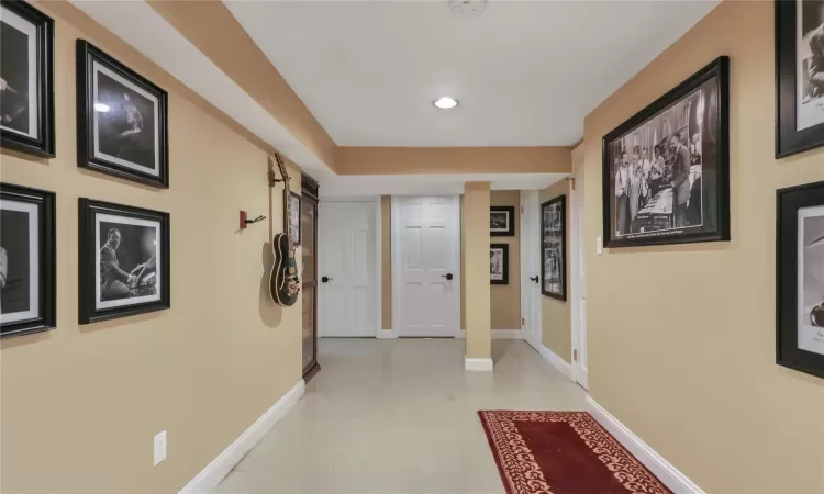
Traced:
POLYGON ((635 456, 644 467, 655 474, 664 485, 675 494, 705 494, 701 487, 689 480, 670 462, 658 454, 653 448, 644 442, 638 436, 630 430, 617 418, 606 412, 590 396, 587 396, 587 411, 603 426, 624 448, 635 456))

